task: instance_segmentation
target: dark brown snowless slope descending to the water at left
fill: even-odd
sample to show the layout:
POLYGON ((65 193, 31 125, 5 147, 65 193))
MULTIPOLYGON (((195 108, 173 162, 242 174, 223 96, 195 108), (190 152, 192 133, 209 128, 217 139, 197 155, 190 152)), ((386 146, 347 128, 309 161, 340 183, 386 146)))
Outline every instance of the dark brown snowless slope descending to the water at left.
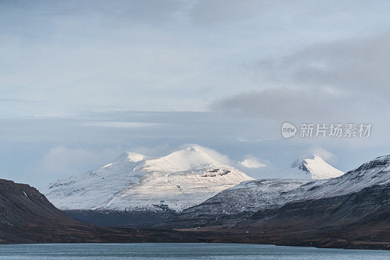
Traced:
POLYGON ((0 179, 0 244, 204 241, 203 235, 174 230, 102 228, 80 223, 36 188, 0 179))

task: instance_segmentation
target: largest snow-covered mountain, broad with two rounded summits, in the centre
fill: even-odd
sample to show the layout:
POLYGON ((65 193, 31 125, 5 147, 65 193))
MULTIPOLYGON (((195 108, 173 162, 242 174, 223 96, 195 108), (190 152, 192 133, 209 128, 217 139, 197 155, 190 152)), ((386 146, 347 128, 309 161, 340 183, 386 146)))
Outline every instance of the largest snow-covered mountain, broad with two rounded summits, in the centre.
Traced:
POLYGON ((60 209, 181 211, 254 180, 199 148, 156 159, 125 152, 113 163, 40 189, 60 209))

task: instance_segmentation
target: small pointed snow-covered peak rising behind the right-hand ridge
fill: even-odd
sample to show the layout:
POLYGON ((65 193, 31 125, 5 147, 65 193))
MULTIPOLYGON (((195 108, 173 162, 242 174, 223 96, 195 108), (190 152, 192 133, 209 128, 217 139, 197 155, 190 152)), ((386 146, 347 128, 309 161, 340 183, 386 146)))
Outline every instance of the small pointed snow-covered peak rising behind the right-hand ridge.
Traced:
POLYGON ((343 174, 344 172, 330 166, 319 156, 308 154, 300 156, 292 163, 290 169, 276 175, 281 176, 281 178, 324 180, 339 177, 343 174))

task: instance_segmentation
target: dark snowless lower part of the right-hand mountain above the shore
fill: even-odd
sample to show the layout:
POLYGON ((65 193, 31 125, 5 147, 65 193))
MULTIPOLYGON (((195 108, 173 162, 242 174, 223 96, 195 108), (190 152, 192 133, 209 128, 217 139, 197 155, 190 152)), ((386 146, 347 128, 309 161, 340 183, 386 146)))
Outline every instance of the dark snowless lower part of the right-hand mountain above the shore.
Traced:
POLYGON ((213 242, 389 250, 389 194, 389 184, 374 185, 346 195, 229 216, 197 230, 226 232, 213 242))

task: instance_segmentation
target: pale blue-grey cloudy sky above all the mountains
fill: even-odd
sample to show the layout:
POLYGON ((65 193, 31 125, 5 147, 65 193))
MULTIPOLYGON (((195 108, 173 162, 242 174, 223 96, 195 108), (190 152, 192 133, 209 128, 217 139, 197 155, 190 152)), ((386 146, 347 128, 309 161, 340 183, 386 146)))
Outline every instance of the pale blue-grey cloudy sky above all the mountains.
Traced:
MULTIPOLYGON (((0 178, 41 187, 129 150, 235 164, 389 154, 389 1, 0 1, 0 178), (281 125, 298 134, 285 139, 281 125), (370 137, 299 136, 368 124, 370 137)), ((258 176, 255 176, 258 177, 258 176)))

